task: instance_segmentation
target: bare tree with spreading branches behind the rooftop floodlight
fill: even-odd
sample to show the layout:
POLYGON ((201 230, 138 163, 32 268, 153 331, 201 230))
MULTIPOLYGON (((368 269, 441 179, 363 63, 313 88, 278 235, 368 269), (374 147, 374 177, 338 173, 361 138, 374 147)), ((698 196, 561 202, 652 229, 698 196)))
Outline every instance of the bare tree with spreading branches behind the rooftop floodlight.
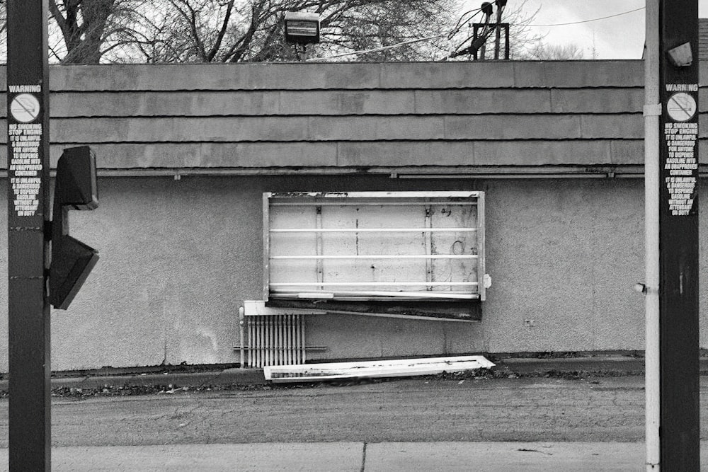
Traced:
MULTIPOLYGON (((161 0, 154 41, 139 49, 148 62, 295 60, 285 43, 285 11, 315 11, 321 43, 310 54, 369 50, 449 28, 454 0, 161 0)), ((359 60, 422 59, 425 48, 402 47, 359 60)))

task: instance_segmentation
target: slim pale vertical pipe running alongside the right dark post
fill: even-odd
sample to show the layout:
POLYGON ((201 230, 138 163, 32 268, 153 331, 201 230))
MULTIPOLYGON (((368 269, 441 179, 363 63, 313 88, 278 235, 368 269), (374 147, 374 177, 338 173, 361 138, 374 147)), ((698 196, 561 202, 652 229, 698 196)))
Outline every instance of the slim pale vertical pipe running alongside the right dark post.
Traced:
POLYGON ((644 50, 644 263, 646 471, 659 470, 659 0, 646 1, 644 50))

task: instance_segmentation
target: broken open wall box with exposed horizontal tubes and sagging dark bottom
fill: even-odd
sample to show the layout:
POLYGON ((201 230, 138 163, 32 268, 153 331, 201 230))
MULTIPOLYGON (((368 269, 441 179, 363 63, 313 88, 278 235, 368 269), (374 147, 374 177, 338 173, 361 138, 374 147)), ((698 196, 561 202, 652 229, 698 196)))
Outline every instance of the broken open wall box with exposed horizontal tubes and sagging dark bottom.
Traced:
POLYGON ((479 319, 484 192, 263 195, 268 306, 479 319))

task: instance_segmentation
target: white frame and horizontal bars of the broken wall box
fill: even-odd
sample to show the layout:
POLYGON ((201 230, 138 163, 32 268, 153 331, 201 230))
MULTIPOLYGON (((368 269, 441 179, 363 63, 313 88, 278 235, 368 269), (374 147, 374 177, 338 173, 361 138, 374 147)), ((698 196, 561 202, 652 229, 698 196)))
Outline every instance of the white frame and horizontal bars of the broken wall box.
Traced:
MULTIPOLYGON (((485 243, 484 243, 484 192, 478 191, 457 191, 457 192, 264 192, 263 193, 263 300, 269 299, 346 299, 350 301, 366 301, 371 300, 394 300, 405 299, 406 301, 413 300, 445 300, 445 301, 464 301, 474 300, 484 301, 486 299, 485 287, 485 243), (430 218, 427 216, 426 221, 422 222, 423 226, 413 227, 384 227, 384 228, 322 228, 321 220, 315 226, 308 227, 289 227, 289 228, 271 228, 270 209, 273 206, 292 206, 303 207, 309 209, 312 207, 324 206, 349 206, 349 205, 406 205, 416 207, 418 205, 430 208, 431 205, 475 205, 476 206, 476 222, 474 227, 445 227, 435 228, 430 226, 430 218), (319 227, 318 227, 319 226, 319 227), (327 233, 387 233, 400 232, 401 234, 418 235, 423 238, 430 236, 433 232, 447 233, 473 233, 476 234, 476 254, 440 254, 431 253, 428 246, 425 254, 376 254, 376 255, 327 255, 321 253, 321 236, 327 233), (271 236, 275 233, 315 233, 317 235, 317 253, 307 255, 272 255, 271 254, 271 236), (273 264, 271 262, 281 259, 302 259, 314 260, 316 264, 321 265, 322 260, 326 259, 372 259, 379 260, 379 263, 384 263, 390 259, 414 259, 426 260, 433 259, 476 259, 476 281, 448 281, 435 282, 426 280, 426 282, 417 281, 398 281, 398 282, 373 282, 373 281, 348 281, 348 282, 326 282, 318 280, 317 282, 271 282, 270 270, 273 264), (381 287, 381 290, 367 291, 358 294, 353 292, 337 292, 336 287, 345 285, 349 289, 355 286, 362 287, 381 287), (426 287, 426 291, 416 290, 408 292, 401 290, 389 292, 385 287, 395 286, 403 287, 410 285, 411 287, 426 287), (434 287, 450 287, 450 293, 435 290, 434 287), (288 287, 299 287, 299 290, 291 291, 288 287), (312 289, 310 289, 312 287, 312 289), (457 287, 454 291, 452 287, 457 287), (469 291, 467 287, 471 288, 469 291)), ((411 236, 413 237, 413 236, 411 236)), ((415 236, 418 237, 418 236, 415 236)), ((321 272, 321 270, 319 271, 321 272)), ((324 277, 324 276, 323 276, 324 277)))

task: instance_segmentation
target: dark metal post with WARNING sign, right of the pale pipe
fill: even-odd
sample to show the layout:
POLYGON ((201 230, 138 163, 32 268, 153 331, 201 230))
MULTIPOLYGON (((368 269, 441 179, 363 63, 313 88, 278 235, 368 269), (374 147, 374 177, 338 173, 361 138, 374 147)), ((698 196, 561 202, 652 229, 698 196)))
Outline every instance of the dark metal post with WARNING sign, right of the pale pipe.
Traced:
POLYGON ((698 472, 697 0, 661 1, 659 76, 660 464, 698 472))

